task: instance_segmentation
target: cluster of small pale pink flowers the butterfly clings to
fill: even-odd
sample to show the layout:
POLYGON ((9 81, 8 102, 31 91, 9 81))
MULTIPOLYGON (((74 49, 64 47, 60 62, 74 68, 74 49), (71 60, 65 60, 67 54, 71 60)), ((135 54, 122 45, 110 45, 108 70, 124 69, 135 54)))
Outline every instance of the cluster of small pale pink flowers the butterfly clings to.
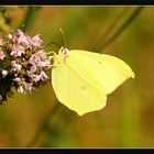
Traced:
POLYGON ((0 38, 0 103, 12 96, 12 88, 26 94, 48 80, 50 56, 42 43, 38 34, 31 37, 21 30, 0 38))

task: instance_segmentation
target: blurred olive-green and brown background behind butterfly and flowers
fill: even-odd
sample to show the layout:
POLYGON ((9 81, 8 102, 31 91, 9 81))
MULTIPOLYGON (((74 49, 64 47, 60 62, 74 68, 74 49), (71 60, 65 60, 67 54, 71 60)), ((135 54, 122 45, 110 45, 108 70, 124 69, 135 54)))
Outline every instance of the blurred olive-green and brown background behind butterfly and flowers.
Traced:
MULTIPOLYGON (((63 45, 57 31, 62 28, 69 50, 120 57, 133 69, 135 79, 129 79, 109 95, 102 110, 82 117, 57 102, 52 84, 33 90, 32 95, 15 92, 14 98, 0 107, 0 147, 28 144, 32 147, 154 147, 154 8, 142 9, 113 42, 101 46, 136 9, 1 7, 4 10, 0 16, 1 35, 20 26, 30 35, 41 33, 44 45, 50 42, 63 45), (57 103, 58 109, 50 116, 57 103), (40 130, 45 117, 46 125, 40 130)), ((46 51, 58 52, 58 47, 51 45, 46 51)))

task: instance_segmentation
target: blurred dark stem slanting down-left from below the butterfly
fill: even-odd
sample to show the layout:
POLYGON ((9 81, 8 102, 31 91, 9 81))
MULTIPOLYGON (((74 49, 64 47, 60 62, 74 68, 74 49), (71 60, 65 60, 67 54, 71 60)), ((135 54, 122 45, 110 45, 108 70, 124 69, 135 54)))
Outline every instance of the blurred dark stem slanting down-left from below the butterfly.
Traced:
POLYGON ((42 132, 47 128, 47 125, 51 121, 51 117, 53 117, 57 112, 58 109, 59 109, 59 102, 56 102, 56 105, 54 107, 52 107, 52 109, 44 117, 44 120, 43 120, 40 129, 36 130, 34 136, 28 143, 26 147, 32 147, 36 143, 36 141, 40 139, 42 132))

